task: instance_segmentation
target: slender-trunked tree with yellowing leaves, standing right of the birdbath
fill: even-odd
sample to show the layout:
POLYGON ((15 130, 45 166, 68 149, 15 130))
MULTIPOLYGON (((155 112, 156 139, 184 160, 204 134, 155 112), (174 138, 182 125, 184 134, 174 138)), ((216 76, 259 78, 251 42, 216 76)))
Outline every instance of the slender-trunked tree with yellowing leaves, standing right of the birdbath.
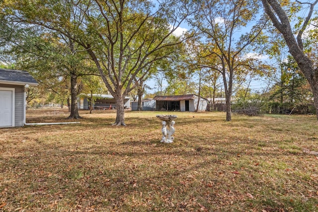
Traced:
POLYGON ((231 96, 235 81, 239 84, 247 72, 260 70, 256 59, 248 58, 246 54, 261 35, 267 20, 255 15, 260 8, 257 0, 199 0, 195 3, 198 10, 191 24, 202 33, 207 44, 212 44, 209 54, 218 58, 218 64, 207 67, 219 71, 223 77, 226 120, 231 121, 231 96), (256 20, 256 17, 260 18, 256 20), (248 28, 253 22, 255 25, 248 28), (247 32, 242 33, 243 30, 247 32))

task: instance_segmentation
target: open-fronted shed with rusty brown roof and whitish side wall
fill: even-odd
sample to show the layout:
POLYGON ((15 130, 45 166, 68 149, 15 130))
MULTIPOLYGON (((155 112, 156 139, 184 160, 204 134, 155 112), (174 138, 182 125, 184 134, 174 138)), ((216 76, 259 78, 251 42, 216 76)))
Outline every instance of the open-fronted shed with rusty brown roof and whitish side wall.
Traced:
POLYGON ((198 101, 198 112, 207 110, 209 101, 195 94, 177 96, 155 96, 157 111, 196 111, 198 101))

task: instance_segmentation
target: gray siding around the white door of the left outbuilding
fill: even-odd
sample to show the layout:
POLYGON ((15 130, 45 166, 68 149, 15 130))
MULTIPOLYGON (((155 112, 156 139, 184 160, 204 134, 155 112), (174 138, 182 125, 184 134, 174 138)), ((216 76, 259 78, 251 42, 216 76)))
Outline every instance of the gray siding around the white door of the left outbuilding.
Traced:
POLYGON ((23 85, 0 84, 0 87, 14 88, 14 125, 15 127, 23 126, 23 85))

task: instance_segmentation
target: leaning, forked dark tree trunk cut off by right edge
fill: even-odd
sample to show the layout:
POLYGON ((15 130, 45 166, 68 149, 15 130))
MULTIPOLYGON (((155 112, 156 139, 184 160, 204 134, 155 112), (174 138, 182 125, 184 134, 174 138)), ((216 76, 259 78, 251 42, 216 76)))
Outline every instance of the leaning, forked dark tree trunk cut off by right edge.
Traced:
MULTIPOLYGON (((303 39, 306 38, 304 33, 311 25, 312 16, 314 14, 315 6, 317 5, 318 0, 309 0, 307 2, 296 0, 292 2, 293 4, 289 5, 286 5, 285 1, 282 2, 285 3, 284 5, 277 0, 262 0, 262 3, 266 14, 272 20, 274 27, 283 35, 290 54, 293 56, 299 66, 299 69, 303 72, 304 76, 308 80, 314 94, 314 104, 316 111, 318 111, 318 67, 316 61, 308 57, 305 48, 306 46, 304 45, 303 41, 303 39), (295 28, 292 29, 291 20, 289 18, 290 16, 284 10, 284 6, 287 6, 287 8, 289 6, 291 10, 307 6, 307 16, 299 18, 301 22, 296 24, 295 28), (297 34, 294 34, 295 31, 297 34)), ((315 26, 315 28, 317 27, 315 26)))

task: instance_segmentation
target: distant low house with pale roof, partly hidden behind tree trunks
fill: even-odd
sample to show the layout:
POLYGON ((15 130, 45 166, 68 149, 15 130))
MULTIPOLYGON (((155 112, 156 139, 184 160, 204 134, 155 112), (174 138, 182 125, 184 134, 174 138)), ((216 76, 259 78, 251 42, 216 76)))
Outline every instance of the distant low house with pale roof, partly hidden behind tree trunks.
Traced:
MULTIPOLYGON (((78 99, 78 108, 83 110, 89 110, 89 96, 85 95, 78 99)), ((108 110, 116 109, 116 99, 109 94, 93 94, 95 102, 93 103, 94 110, 108 110)), ((125 97, 124 106, 126 109, 130 109, 130 97, 125 97)))

